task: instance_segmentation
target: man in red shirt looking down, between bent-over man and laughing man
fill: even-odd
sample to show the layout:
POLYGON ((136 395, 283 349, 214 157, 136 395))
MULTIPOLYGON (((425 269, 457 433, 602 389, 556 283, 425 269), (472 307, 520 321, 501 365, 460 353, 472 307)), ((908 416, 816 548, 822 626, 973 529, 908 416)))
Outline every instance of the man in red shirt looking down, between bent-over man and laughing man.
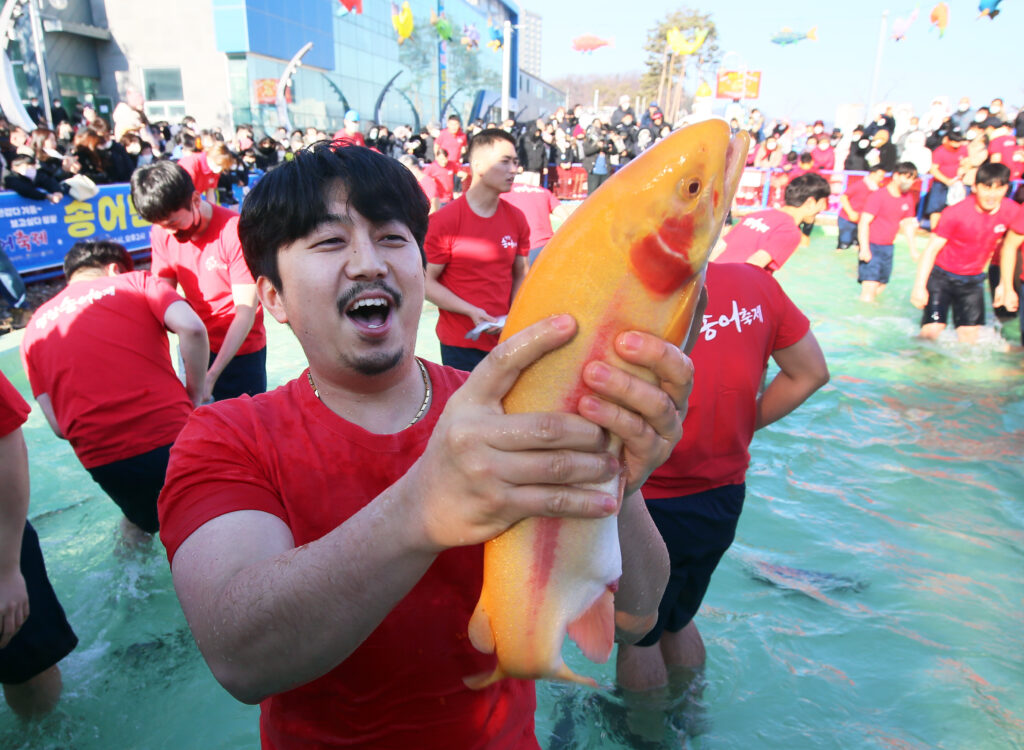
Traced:
POLYGON ((135 170, 131 198, 153 222, 153 274, 185 299, 206 325, 210 365, 204 402, 266 390, 266 329, 256 282, 239 243, 239 215, 200 199, 172 162, 135 170))

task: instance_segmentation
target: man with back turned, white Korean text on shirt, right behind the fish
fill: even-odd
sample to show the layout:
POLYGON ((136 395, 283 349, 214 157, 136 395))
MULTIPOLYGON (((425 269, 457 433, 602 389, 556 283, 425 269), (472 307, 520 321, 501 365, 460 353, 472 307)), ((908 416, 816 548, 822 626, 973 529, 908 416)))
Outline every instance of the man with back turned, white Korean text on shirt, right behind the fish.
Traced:
POLYGON ((693 391, 683 439, 643 487, 672 573, 657 624, 635 645, 618 647, 618 682, 632 691, 667 684, 672 667, 703 664, 693 617, 735 536, 754 432, 828 381, 807 318, 770 275, 713 262, 706 286, 708 308, 690 334, 693 391), (762 392, 769 358, 780 369, 762 392))

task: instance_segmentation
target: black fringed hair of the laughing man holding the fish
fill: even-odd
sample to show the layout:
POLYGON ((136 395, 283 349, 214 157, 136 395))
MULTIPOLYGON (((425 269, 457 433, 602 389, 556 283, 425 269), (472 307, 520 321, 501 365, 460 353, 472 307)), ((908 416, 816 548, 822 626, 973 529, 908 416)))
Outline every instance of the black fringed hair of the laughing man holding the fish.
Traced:
POLYGON ((314 143, 267 172, 246 196, 239 218, 239 239, 253 278, 265 276, 282 290, 278 253, 327 220, 330 187, 338 183, 348 208, 370 221, 406 224, 426 263, 430 204, 416 177, 396 160, 361 145, 314 143))

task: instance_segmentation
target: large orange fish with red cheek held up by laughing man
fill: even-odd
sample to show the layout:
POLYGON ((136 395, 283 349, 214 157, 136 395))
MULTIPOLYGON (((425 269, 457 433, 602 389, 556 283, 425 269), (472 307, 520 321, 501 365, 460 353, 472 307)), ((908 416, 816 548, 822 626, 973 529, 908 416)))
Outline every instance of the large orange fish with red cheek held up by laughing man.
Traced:
MULTIPOLYGON (((630 368, 612 349, 623 331, 682 343, 749 142, 742 132, 730 139, 722 120, 682 128, 566 219, 527 275, 502 337, 560 312, 571 314, 579 330, 522 373, 504 400, 506 412, 575 412, 587 392, 587 363, 630 368)), ((602 489, 621 494, 622 481, 602 489)), ((547 677, 593 684, 565 666, 562 641, 567 632, 590 660, 607 661, 621 575, 615 517, 526 518, 487 542, 469 637, 479 651, 497 653, 498 667, 466 683, 547 677)), ((653 616, 643 622, 652 626, 653 616)))

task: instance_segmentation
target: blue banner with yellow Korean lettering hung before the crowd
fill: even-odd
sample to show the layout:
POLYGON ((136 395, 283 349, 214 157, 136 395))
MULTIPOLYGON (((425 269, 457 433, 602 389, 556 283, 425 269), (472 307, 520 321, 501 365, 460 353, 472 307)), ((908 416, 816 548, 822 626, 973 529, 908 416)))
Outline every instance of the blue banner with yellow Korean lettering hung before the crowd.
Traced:
POLYGON ((59 267, 80 240, 112 240, 129 252, 150 247, 150 222, 135 212, 127 182, 99 186, 88 201, 57 204, 0 193, 0 249, 19 274, 59 267))

